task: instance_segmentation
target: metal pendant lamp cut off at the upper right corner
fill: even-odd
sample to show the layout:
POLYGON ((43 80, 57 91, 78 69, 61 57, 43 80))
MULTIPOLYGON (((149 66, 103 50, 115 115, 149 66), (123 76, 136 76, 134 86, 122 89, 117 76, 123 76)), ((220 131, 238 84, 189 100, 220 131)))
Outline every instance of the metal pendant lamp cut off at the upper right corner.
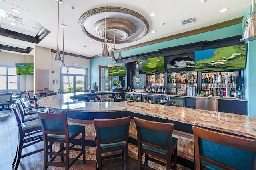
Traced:
MULTIPOLYGON (((248 17, 250 17, 246 22, 247 24, 244 23, 244 26, 247 26, 246 29, 244 29, 244 33, 242 35, 242 39, 240 39, 241 42, 245 42, 245 41, 252 41, 256 39, 256 16, 254 16, 254 14, 256 14, 256 10, 254 10, 254 4, 255 4, 255 0, 252 0, 252 12, 249 13, 248 17)), ((248 18, 246 17, 244 19, 245 20, 248 18)))

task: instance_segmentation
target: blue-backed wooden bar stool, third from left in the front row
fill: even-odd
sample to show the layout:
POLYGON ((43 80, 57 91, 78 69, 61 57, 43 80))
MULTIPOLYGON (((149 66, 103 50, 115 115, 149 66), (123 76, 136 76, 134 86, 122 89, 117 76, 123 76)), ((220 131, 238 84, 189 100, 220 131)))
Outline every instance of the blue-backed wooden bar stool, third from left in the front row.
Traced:
POLYGON ((173 123, 148 121, 134 117, 138 142, 138 170, 152 170, 148 160, 166 166, 167 170, 177 168, 177 141, 172 137, 173 123), (145 161, 142 164, 142 156, 145 161))

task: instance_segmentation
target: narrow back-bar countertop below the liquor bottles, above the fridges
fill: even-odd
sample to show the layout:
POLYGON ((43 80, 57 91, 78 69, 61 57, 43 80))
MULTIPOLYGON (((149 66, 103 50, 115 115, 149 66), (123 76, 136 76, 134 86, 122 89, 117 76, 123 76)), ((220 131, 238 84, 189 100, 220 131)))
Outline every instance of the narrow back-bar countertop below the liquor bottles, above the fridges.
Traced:
POLYGON ((183 98, 208 98, 208 99, 221 99, 221 100, 238 100, 238 101, 248 101, 246 99, 240 99, 236 97, 220 97, 220 96, 182 96, 177 94, 162 94, 162 93, 142 93, 142 92, 124 92, 128 94, 146 94, 146 95, 156 95, 156 96, 173 96, 173 97, 183 97, 183 98))

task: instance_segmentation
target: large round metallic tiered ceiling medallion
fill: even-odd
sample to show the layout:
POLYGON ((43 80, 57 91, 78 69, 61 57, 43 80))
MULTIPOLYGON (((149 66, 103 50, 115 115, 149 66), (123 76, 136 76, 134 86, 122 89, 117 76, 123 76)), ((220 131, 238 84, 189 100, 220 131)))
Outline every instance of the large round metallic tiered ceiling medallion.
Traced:
MULTIPOLYGON (((79 19, 81 31, 88 37, 102 42, 105 39, 105 7, 85 12, 79 19)), ((121 7, 107 7, 106 39, 116 44, 137 41, 148 33, 148 21, 135 11, 121 7)))

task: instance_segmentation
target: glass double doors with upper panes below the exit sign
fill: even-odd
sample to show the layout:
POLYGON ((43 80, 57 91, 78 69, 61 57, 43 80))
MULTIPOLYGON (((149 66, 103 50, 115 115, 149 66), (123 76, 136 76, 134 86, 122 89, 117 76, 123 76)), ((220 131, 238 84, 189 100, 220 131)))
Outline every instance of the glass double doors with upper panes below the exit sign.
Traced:
POLYGON ((87 90, 88 68, 66 67, 61 73, 63 93, 87 90))

